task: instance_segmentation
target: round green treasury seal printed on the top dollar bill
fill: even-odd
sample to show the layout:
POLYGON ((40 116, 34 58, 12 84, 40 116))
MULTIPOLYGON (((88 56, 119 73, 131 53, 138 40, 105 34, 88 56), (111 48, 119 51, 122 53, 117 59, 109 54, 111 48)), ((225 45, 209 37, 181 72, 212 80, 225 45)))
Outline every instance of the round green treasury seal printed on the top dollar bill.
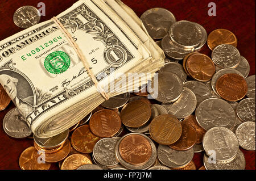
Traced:
POLYGON ((44 60, 44 67, 53 74, 60 74, 66 71, 70 65, 70 58, 67 53, 56 51, 52 52, 44 60))

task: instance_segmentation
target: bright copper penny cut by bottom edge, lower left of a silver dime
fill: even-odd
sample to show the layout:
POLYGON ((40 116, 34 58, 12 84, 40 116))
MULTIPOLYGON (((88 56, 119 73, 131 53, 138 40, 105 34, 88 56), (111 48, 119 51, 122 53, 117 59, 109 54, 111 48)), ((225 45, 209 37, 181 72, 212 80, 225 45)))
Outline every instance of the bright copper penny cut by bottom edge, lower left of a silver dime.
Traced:
POLYGON ((72 154, 64 159, 61 170, 76 170, 82 165, 93 164, 89 158, 82 154, 72 154))

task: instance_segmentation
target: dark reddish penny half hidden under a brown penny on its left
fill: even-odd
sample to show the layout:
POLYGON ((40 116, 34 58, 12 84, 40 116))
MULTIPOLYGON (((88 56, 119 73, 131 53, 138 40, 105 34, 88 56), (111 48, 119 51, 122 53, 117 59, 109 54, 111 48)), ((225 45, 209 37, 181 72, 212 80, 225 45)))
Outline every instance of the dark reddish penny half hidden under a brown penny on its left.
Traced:
POLYGON ((181 123, 182 133, 174 144, 169 145, 170 148, 180 151, 191 149, 196 144, 196 129, 187 123, 181 123))

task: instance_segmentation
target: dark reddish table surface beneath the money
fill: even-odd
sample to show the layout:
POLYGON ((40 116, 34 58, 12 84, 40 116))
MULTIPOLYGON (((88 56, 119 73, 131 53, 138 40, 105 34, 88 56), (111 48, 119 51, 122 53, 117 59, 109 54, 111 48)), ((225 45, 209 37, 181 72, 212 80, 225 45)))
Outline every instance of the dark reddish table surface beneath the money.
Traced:
MULTIPOLYGON (((76 0, 27 0, 27 1, 14 1, 14 0, 1 0, 0 2, 0 40, 5 39, 15 33, 22 31, 21 28, 15 26, 13 22, 13 14, 16 9, 21 6, 34 6, 37 7, 39 2, 44 2, 46 5, 46 16, 42 16, 40 22, 49 20, 52 16, 60 14, 60 12, 71 7, 76 0)), ((153 7, 163 7, 170 10, 179 20, 189 20, 201 24, 208 34, 217 29, 225 28, 232 31, 238 39, 237 48, 240 50, 251 66, 250 75, 255 74, 255 1, 247 0, 222 0, 215 1, 216 15, 208 15, 208 3, 212 0, 123 0, 126 5, 130 6, 138 16, 153 7)), ((210 49, 205 45, 202 53, 210 56, 210 49)), ((32 146, 33 141, 26 139, 14 139, 3 131, 2 121, 6 113, 14 108, 14 104, 0 112, 0 169, 20 169, 19 155, 22 151, 29 146, 32 146)), ((246 159, 246 169, 255 170, 255 151, 243 150, 246 159)), ((203 166, 203 153, 195 154, 193 161, 196 168, 203 166)), ((53 164, 51 169, 57 169, 57 165, 53 164)))

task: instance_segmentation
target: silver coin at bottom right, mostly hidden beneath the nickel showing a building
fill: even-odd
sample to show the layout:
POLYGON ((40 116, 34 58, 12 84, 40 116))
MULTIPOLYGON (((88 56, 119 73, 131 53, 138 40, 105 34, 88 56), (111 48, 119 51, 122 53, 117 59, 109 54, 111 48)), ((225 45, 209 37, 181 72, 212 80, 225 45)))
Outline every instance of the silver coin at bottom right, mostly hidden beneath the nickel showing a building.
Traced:
POLYGON ((209 157, 204 154, 204 166, 207 170, 245 170, 245 155, 238 150, 236 156, 231 161, 216 161, 209 163, 209 157))

